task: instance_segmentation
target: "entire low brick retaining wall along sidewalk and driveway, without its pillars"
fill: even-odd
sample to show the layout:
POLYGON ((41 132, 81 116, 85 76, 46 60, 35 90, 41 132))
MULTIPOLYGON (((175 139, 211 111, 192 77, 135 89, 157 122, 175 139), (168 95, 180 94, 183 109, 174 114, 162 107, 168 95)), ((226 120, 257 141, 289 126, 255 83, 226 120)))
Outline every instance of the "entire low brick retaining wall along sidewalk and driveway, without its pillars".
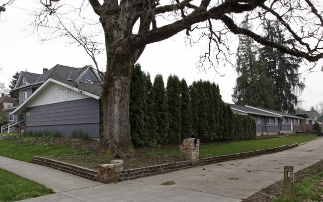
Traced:
MULTIPOLYGON (((237 154, 229 154, 229 155, 222 155, 222 156, 215 156, 215 157, 208 157, 208 158, 201 158, 199 159, 199 166, 207 165, 207 164, 213 164, 221 161, 228 161, 233 159, 240 159, 240 158, 246 158, 251 156, 257 156, 257 155, 263 155, 273 152, 282 151, 285 149, 290 149, 293 147, 298 146, 297 143, 292 145, 283 145, 280 147, 274 147, 269 149, 261 149, 256 151, 249 151, 249 152, 242 152, 237 154)), ((44 158, 44 157, 37 157, 35 156, 31 163, 51 167, 66 173, 70 173, 73 175, 80 176, 82 178, 86 178, 89 180, 97 181, 97 171, 83 168, 81 166, 76 166, 73 164, 44 158)), ((145 176, 150 175, 156 175, 160 173, 166 173, 170 171, 185 169, 192 167, 190 161, 180 161, 176 163, 169 163, 169 164, 163 164, 163 165, 157 165, 157 166, 149 166, 144 168, 136 168, 136 169, 130 169, 130 170, 123 170, 123 171, 117 171, 117 181, 125 181, 125 180, 131 180, 135 178, 141 178, 145 176)))

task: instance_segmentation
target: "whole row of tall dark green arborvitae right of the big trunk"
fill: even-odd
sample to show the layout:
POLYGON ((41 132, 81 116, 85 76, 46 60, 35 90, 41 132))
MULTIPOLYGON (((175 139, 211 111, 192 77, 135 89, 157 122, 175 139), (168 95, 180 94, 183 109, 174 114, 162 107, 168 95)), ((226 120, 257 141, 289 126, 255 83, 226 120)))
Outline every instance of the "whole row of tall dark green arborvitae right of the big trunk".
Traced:
POLYGON ((136 65, 130 93, 130 129, 134 146, 179 143, 185 138, 201 142, 239 141, 256 137, 251 116, 234 114, 222 101, 219 86, 209 81, 193 82, 169 76, 150 75, 136 65))

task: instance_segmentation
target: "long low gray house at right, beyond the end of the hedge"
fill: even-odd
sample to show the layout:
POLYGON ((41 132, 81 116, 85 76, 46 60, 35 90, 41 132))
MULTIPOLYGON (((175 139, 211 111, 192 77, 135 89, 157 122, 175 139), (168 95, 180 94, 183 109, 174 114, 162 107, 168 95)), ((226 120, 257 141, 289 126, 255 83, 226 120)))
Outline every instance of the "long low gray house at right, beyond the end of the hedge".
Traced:
POLYGON ((248 105, 231 104, 231 108, 234 113, 249 114, 255 119, 257 135, 293 133, 301 130, 303 118, 299 116, 248 105))

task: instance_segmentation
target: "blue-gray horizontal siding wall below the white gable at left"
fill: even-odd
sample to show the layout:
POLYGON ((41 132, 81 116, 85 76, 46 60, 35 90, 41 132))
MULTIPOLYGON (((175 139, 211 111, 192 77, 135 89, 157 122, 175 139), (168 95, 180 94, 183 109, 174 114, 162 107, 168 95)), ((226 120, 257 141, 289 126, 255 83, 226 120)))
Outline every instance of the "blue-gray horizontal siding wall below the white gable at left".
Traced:
POLYGON ((26 131, 57 130, 70 136, 73 130, 99 137, 99 101, 93 98, 26 108, 26 131))

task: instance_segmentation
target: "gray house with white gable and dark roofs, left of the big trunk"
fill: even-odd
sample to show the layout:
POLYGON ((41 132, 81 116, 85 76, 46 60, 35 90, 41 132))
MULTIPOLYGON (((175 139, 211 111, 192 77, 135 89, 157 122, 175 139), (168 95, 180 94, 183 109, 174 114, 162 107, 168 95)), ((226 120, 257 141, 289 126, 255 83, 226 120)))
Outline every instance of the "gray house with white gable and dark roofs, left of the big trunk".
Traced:
POLYGON ((16 90, 19 105, 11 112, 25 119, 25 131, 57 130, 70 136, 73 130, 100 134, 100 79, 91 66, 56 65, 43 74, 21 72, 16 90))

